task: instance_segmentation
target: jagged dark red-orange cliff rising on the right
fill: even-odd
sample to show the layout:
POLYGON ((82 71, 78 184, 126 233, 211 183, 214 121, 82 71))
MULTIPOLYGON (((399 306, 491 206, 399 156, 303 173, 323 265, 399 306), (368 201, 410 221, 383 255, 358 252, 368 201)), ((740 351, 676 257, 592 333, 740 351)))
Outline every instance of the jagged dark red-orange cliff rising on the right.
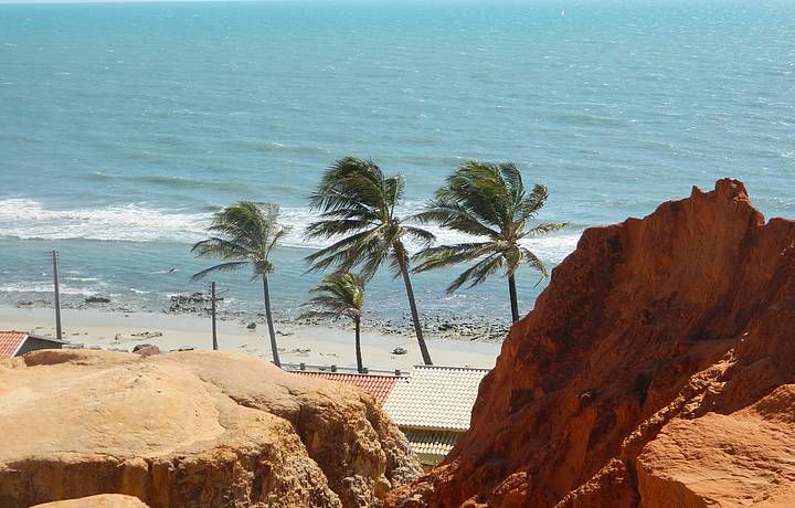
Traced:
POLYGON ((795 223, 741 182, 589 229, 388 506, 795 506, 793 322, 795 223))

